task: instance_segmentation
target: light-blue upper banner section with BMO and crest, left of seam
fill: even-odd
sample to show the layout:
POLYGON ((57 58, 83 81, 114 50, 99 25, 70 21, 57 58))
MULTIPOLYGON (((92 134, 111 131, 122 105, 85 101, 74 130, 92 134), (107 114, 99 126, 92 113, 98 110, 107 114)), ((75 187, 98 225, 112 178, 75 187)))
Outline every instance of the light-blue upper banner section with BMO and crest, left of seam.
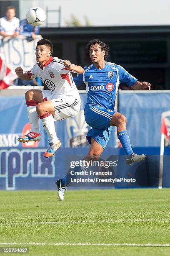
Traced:
MULTIPOLYGON (((75 117, 55 122, 55 129, 57 137, 60 138, 61 147, 89 147, 86 135, 90 126, 87 125, 84 117, 87 94, 81 93, 80 97, 80 112, 75 117)), ((0 126, 0 148, 48 148, 47 133, 43 129, 40 120, 40 133, 42 136, 40 142, 20 143, 17 140, 20 136, 30 131, 25 97, 0 97, 0 120, 3 120, 3 125, 0 126)), ((109 147, 116 146, 116 136, 116 128, 114 128, 108 143, 109 147)))

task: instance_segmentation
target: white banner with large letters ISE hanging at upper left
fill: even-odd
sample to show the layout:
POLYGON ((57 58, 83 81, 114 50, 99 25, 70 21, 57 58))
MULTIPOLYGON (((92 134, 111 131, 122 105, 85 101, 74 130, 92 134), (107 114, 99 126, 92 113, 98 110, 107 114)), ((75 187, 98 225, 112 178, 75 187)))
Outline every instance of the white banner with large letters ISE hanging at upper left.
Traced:
POLYGON ((6 65, 10 69, 21 66, 25 72, 32 69, 36 63, 35 49, 37 41, 42 39, 41 35, 29 41, 26 36, 17 36, 15 38, 0 37, 0 53, 5 58, 6 65))

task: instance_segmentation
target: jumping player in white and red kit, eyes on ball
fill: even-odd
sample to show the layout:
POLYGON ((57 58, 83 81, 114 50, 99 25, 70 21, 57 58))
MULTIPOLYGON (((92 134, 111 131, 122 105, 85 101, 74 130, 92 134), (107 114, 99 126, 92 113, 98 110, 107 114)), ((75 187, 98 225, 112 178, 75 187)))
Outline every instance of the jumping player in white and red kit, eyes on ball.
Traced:
POLYGON ((70 72, 82 74, 84 69, 71 64, 70 61, 52 57, 53 45, 47 39, 37 42, 37 64, 27 73, 21 67, 15 69, 16 74, 23 80, 40 77, 50 91, 29 90, 25 94, 28 118, 31 124, 30 133, 18 138, 20 142, 40 141, 38 118, 50 137, 50 146, 45 157, 53 156, 60 147, 60 140, 55 132, 54 121, 76 115, 80 110, 80 95, 70 72))

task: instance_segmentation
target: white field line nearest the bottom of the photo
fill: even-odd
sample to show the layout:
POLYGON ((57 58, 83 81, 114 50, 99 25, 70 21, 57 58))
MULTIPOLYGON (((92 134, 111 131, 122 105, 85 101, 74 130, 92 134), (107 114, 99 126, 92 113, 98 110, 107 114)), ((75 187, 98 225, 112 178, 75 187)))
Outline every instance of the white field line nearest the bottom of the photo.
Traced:
POLYGON ((0 245, 19 245, 19 246, 141 246, 141 247, 170 247, 169 243, 0 243, 0 245))

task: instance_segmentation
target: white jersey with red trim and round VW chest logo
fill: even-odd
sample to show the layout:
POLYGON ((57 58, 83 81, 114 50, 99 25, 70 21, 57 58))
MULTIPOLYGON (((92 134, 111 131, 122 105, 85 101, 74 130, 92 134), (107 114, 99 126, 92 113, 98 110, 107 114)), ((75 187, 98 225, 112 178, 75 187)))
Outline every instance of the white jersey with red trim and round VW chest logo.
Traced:
POLYGON ((50 57, 43 66, 43 70, 41 69, 40 63, 37 63, 28 71, 28 75, 31 80, 40 77, 42 82, 52 91, 52 94, 75 95, 75 92, 77 93, 78 90, 71 72, 74 71, 67 69, 62 59, 50 57))

